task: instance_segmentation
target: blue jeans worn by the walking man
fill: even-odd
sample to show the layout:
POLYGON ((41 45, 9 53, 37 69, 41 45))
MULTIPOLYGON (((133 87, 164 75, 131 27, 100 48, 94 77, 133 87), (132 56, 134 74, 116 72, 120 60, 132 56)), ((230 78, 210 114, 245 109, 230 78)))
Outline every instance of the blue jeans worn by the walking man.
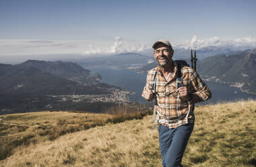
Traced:
POLYGON ((189 137, 193 131, 193 127, 194 123, 181 125, 172 129, 164 127, 161 124, 158 126, 162 166, 182 167, 181 160, 187 147, 189 137))

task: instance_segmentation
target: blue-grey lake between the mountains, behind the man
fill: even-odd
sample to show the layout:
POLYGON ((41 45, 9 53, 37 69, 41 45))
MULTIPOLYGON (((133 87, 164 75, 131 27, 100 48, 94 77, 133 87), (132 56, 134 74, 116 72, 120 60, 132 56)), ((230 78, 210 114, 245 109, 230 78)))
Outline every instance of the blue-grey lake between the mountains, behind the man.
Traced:
MULTIPOLYGON (((129 92, 135 92, 129 96, 134 102, 146 103, 141 97, 141 92, 146 84, 146 73, 136 73, 130 69, 119 69, 116 67, 87 67, 92 75, 99 73, 102 76, 102 82, 114 86, 125 88, 129 92)), ((256 95, 241 92, 239 88, 228 86, 227 84, 219 84, 211 81, 205 81, 205 84, 212 91, 212 98, 203 102, 203 104, 216 104, 217 102, 230 102, 236 100, 255 99, 256 95)))

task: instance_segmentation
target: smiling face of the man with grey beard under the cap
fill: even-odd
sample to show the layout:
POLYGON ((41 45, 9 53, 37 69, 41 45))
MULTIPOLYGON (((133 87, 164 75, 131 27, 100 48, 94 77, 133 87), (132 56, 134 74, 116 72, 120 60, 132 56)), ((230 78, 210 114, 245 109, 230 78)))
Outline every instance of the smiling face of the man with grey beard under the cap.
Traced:
POLYGON ((165 44, 158 44, 154 49, 154 57, 160 67, 166 67, 169 63, 172 63, 173 51, 165 44))

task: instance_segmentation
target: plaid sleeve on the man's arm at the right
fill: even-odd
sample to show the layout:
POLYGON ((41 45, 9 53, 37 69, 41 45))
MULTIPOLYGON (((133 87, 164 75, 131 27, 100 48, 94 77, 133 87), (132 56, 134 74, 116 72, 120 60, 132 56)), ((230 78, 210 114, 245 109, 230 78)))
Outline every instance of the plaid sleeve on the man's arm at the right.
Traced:
POLYGON ((197 72, 194 70, 191 74, 190 82, 193 90, 195 90, 194 94, 197 94, 199 96, 199 99, 193 100, 193 102, 203 102, 212 97, 212 92, 210 88, 207 87, 207 85, 202 81, 197 72))

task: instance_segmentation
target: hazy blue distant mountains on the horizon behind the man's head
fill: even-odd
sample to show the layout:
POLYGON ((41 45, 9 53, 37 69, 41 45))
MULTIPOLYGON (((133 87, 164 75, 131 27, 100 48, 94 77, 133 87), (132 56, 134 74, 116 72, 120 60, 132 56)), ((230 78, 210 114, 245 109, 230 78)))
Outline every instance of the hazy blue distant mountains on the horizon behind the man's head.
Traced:
MULTIPOLYGON (((234 46, 207 46, 197 50, 197 59, 199 61, 210 57, 212 55, 218 55, 227 53, 230 55, 241 53, 238 48, 234 46)), ((190 49, 188 48, 175 48, 173 59, 190 61, 190 49)), ((137 53, 120 53, 116 55, 90 55, 82 59, 73 59, 82 67, 91 66, 106 66, 106 67, 118 67, 126 69, 141 69, 150 63, 155 63, 153 56, 153 49, 148 48, 137 53)), ((156 64, 156 63, 155 63, 156 64)))

